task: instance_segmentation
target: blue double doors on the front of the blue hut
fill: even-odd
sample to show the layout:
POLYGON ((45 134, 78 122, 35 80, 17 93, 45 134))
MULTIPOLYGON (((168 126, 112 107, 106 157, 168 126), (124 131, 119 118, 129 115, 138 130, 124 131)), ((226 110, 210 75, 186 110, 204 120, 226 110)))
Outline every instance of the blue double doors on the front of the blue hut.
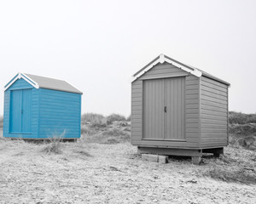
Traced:
POLYGON ((32 89, 13 90, 10 96, 10 133, 31 133, 32 89))

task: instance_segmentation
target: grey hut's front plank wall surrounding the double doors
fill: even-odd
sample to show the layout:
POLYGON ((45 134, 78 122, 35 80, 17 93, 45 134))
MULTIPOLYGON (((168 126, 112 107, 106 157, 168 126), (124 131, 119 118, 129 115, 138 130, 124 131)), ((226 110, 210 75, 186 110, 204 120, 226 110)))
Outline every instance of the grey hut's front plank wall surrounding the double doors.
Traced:
POLYGON ((168 63, 155 65, 131 83, 131 144, 196 148, 200 142, 199 78, 168 63), (143 80, 185 77, 185 141, 143 139, 143 80))

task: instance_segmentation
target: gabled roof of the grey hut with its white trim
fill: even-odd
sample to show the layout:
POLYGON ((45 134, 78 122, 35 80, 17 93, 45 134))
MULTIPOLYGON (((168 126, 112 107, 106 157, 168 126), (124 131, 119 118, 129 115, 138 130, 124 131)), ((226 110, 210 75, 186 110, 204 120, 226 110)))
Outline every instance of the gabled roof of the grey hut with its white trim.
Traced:
POLYGON ((160 54, 157 58, 155 58, 151 62, 149 62, 148 65, 145 65, 141 70, 137 71, 132 76, 133 77, 132 82, 134 82, 138 77, 143 76, 143 74, 145 72, 149 71, 150 69, 152 69, 154 67, 154 65, 157 65, 158 63, 163 64, 164 62, 172 64, 172 65, 176 66, 177 68, 182 69, 183 71, 187 71, 190 74, 194 75, 195 77, 205 76, 208 78, 212 78, 213 80, 215 80, 217 82, 222 82, 222 83, 230 86, 230 83, 225 82, 224 80, 221 80, 218 77, 214 77, 214 76, 208 74, 206 71, 201 71, 200 69, 195 68, 191 65, 185 65, 185 64, 177 61, 176 59, 172 59, 172 58, 166 56, 165 54, 160 54))

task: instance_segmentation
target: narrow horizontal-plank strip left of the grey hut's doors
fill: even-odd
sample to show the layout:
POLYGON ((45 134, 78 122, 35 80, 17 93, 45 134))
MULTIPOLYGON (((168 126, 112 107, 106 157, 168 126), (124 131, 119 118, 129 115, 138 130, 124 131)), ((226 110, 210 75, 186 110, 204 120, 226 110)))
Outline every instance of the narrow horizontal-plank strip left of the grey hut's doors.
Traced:
POLYGON ((139 145, 143 137, 143 81, 131 83, 131 144, 139 145))

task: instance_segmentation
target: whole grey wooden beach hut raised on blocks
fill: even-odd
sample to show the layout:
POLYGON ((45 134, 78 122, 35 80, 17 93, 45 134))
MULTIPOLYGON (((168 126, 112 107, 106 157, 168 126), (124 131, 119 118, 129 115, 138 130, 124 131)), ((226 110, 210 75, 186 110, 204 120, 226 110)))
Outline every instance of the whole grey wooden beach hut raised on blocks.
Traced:
POLYGON ((160 54, 131 82, 131 144, 139 153, 192 156, 224 153, 228 88, 205 71, 160 54))

